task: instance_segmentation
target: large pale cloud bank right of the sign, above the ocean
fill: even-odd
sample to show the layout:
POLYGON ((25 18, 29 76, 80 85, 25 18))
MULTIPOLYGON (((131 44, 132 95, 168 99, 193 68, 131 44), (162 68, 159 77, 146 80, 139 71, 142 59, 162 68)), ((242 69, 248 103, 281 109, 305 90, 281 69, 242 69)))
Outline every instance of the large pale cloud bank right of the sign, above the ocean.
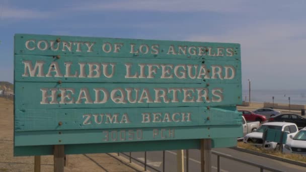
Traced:
POLYGON ((243 80, 251 78, 257 89, 301 89, 306 85, 306 81, 296 80, 306 72, 304 23, 257 23, 221 35, 192 35, 187 40, 240 43, 243 80))

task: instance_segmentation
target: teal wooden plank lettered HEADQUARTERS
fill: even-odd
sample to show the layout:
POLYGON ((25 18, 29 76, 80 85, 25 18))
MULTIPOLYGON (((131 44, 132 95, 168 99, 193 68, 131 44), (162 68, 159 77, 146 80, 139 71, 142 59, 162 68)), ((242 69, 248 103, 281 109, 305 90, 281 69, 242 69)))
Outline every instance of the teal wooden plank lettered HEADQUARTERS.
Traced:
POLYGON ((16 82, 15 88, 16 109, 203 107, 242 102, 240 83, 16 82))

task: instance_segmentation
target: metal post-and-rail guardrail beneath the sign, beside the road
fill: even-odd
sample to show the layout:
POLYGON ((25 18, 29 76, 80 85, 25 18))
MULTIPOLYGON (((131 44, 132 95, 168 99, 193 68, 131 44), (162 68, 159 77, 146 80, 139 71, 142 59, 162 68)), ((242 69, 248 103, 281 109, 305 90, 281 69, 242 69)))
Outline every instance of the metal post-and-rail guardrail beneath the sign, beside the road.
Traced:
MULTIPOLYGON (((133 158, 131 156, 132 152, 129 152, 129 154, 126 154, 126 153, 123 153, 123 152, 121 152, 121 153, 124 154, 125 156, 129 157, 130 163, 132 162, 132 159, 133 159, 133 160, 143 164, 144 165, 144 170, 146 170, 147 167, 149 167, 149 168, 151 168, 155 171, 158 171, 158 172, 165 172, 165 150, 163 151, 163 170, 162 171, 160 171, 159 169, 157 169, 157 168, 155 168, 151 165, 148 165, 146 163, 147 162, 146 151, 144 152, 144 162, 140 161, 136 158, 133 158)), ((271 168, 269 166, 265 166, 265 165, 250 162, 250 161, 247 161, 247 160, 244 160, 244 159, 240 159, 240 158, 237 158, 237 157, 229 156, 229 155, 226 155, 224 153, 217 152, 217 151, 214 151, 214 150, 212 150, 211 153, 217 156, 217 171, 218 172, 220 172, 220 170, 221 170, 221 168, 220 168, 220 157, 231 159, 231 160, 234 160, 234 161, 238 161, 238 162, 242 162, 242 163, 245 163, 245 164, 248 164, 248 165, 251 165, 251 166, 258 167, 260 169, 260 172, 263 172, 264 170, 269 170, 271 172, 284 172, 284 171, 281 171, 281 170, 278 170, 278 169, 275 169, 275 168, 271 168)), ((119 156, 119 152, 118 152, 118 156, 119 156)), ((186 169, 187 169, 186 171, 188 172, 189 171, 189 150, 188 149, 186 150, 186 169)))

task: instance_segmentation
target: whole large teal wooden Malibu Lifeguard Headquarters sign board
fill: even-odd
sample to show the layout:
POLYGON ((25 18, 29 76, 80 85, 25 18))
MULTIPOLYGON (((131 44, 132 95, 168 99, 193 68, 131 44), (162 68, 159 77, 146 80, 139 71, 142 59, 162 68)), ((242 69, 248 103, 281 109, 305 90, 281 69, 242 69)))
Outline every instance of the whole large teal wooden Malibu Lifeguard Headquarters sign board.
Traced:
POLYGON ((16 34, 14 57, 16 156, 242 136, 240 44, 16 34))

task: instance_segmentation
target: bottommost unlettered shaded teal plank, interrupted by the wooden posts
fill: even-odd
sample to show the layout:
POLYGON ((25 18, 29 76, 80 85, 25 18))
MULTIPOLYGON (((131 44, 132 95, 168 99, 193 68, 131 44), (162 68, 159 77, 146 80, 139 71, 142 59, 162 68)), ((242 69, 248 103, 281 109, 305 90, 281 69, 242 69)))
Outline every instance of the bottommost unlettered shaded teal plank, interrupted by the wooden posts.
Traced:
MULTIPOLYGON (((233 147, 237 145, 237 138, 212 138, 211 147, 233 147)), ((65 154, 82 153, 111 153, 111 152, 135 152, 178 149, 199 149, 199 139, 190 140, 157 140, 138 142, 116 142, 98 144, 66 144, 65 154)), ((52 155, 53 145, 43 146, 15 146, 14 156, 52 155)))

